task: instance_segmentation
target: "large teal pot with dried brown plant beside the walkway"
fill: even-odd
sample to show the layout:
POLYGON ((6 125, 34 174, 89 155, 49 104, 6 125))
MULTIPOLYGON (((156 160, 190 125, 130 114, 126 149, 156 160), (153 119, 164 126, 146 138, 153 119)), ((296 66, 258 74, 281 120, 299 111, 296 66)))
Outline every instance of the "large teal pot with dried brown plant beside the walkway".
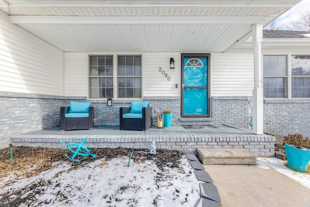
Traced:
POLYGON ((289 168, 305 172, 310 162, 310 139, 301 134, 284 137, 285 153, 289 168))

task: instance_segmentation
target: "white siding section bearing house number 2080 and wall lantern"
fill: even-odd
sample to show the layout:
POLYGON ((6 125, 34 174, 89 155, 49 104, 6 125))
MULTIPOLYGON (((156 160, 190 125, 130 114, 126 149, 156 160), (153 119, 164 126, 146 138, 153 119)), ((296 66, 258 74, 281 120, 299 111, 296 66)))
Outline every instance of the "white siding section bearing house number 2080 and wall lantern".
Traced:
POLYGON ((142 57, 144 96, 180 96, 180 53, 144 53, 142 57), (174 69, 170 69, 170 58, 174 58, 174 69), (162 71, 165 71, 164 75, 162 71), (175 84, 178 84, 178 88, 175 88, 175 84))

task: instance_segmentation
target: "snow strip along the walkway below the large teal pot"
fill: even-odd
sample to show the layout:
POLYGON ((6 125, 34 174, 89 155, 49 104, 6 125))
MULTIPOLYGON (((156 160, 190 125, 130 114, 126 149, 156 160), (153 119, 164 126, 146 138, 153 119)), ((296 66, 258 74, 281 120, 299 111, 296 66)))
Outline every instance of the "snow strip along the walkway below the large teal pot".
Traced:
POLYGON ((310 189, 310 175, 298 173, 286 167, 284 163, 287 161, 278 158, 257 158, 256 160, 259 164, 258 167, 263 169, 273 168, 310 189))

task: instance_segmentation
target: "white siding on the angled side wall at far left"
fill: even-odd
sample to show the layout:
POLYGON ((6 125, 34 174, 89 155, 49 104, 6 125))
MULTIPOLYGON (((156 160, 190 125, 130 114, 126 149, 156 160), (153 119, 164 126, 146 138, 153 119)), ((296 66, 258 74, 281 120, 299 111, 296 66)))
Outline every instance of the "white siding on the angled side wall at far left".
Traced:
POLYGON ((0 90, 63 96, 63 52, 0 21, 0 90))

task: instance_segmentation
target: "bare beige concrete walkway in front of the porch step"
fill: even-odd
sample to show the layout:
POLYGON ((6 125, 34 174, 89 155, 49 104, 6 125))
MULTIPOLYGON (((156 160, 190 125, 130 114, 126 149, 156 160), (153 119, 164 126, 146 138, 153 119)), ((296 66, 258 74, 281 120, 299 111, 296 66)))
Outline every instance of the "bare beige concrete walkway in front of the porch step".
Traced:
POLYGON ((217 186, 221 207, 310 207, 310 189, 275 169, 203 166, 217 186))

